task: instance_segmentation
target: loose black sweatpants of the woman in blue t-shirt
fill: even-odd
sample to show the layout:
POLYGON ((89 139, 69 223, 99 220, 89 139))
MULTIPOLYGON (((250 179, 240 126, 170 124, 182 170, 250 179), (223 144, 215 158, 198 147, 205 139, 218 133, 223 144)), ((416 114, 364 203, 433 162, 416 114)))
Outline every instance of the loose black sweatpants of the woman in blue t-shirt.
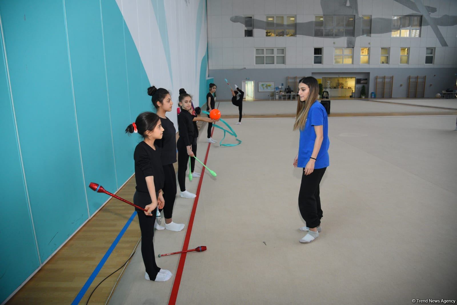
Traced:
POLYGON ((308 228, 316 228, 320 224, 320 218, 323 217, 320 206, 319 183, 324 176, 325 169, 327 168, 314 169, 313 173, 308 176, 305 175, 303 169, 302 184, 298 194, 298 208, 308 228))

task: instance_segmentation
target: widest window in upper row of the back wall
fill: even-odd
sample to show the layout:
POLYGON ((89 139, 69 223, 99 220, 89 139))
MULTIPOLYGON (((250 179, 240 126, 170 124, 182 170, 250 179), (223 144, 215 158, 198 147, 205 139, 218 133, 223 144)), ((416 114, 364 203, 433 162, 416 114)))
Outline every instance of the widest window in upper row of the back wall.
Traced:
POLYGON ((315 37, 354 37, 354 15, 325 15, 314 18, 315 37))

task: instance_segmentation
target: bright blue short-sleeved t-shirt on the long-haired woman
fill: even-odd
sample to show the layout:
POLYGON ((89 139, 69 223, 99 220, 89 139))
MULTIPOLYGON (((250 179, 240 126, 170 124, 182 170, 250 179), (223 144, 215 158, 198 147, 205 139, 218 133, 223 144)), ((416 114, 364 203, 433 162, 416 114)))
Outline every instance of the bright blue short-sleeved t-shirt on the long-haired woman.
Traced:
POLYGON ((314 149, 314 142, 316 140, 316 132, 313 126, 322 125, 324 131, 324 139, 317 154, 314 169, 323 169, 330 165, 329 161, 329 119, 324 106, 318 101, 315 101, 308 112, 305 128, 300 130, 300 144, 298 147, 298 167, 305 167, 308 163, 314 149))

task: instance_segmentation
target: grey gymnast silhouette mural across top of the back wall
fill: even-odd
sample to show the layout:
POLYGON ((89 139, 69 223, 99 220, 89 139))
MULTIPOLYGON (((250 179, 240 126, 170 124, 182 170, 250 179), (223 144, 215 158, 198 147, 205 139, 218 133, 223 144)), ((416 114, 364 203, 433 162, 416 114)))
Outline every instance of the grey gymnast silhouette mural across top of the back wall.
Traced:
MULTIPOLYGON (((447 47, 441 30, 438 27, 452 27, 457 25, 457 16, 443 15, 441 17, 430 16, 430 13, 436 12, 436 7, 424 5, 422 0, 393 0, 405 7, 416 12, 416 14, 409 14, 406 16, 422 16, 421 26, 429 26, 438 38, 442 47, 447 47), (420 15, 419 15, 420 14, 420 15)), ((345 37, 346 45, 348 48, 355 46, 356 38, 361 37, 361 22, 362 16, 359 15, 357 0, 320 0, 322 7, 322 15, 354 15, 354 36, 345 37)), ((400 15, 400 14, 399 14, 400 15)), ((246 25, 247 22, 253 23, 253 29, 266 30, 266 21, 260 19, 247 20, 244 16, 231 16, 230 21, 234 23, 241 23, 246 25)), ((314 37, 314 21, 296 22, 296 36, 310 36, 314 37)), ((250 28, 249 28, 250 29, 250 28)), ((372 18, 371 33, 383 34, 392 31, 392 18, 372 18), (374 26, 373 26, 374 25, 374 26)), ((320 37, 320 36, 319 36, 320 37)), ((334 37, 323 37, 334 38, 334 37)))

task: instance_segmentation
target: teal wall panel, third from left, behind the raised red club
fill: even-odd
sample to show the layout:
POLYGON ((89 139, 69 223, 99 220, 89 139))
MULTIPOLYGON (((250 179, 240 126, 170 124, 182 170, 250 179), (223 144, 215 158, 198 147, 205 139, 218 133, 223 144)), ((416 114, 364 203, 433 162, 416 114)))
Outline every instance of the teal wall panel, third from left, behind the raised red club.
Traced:
POLYGON ((65 9, 84 180, 92 215, 109 196, 87 188, 90 182, 117 191, 100 3, 65 0, 65 9))

